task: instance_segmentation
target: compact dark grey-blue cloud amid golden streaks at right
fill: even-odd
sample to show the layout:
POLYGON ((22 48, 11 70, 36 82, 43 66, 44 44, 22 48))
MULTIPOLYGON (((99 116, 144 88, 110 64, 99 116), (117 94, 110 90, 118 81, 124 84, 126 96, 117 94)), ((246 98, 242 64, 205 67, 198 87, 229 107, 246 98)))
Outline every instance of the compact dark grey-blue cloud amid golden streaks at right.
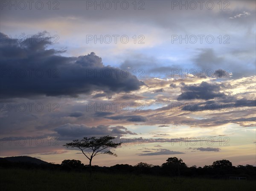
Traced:
POLYGON ((220 93, 220 89, 220 85, 210 84, 207 82, 202 82, 199 86, 185 85, 183 88, 181 88, 183 93, 178 96, 177 100, 210 100, 214 99, 215 97, 224 98, 226 95, 224 93, 220 93))

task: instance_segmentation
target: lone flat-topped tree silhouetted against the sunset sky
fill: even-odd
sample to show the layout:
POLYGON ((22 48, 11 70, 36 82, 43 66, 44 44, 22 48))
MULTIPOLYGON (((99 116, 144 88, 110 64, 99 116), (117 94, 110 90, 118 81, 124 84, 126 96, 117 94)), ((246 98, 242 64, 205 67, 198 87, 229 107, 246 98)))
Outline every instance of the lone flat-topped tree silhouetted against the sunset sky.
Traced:
POLYGON ((90 174, 91 174, 91 166, 93 157, 98 154, 109 154, 117 157, 112 151, 108 150, 108 148, 116 148, 117 146, 121 145, 122 143, 113 143, 113 139, 115 137, 111 137, 109 135, 103 137, 84 137, 82 140, 73 140, 72 143, 66 143, 63 146, 67 148, 79 148, 84 156, 89 159, 89 166, 90 166, 90 174))

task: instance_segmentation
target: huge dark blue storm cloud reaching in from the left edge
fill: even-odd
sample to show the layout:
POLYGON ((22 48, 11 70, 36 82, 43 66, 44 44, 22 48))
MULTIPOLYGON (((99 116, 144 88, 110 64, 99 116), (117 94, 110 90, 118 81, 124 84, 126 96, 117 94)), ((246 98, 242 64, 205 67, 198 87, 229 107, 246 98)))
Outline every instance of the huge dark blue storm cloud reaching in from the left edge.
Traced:
POLYGON ((38 95, 77 97, 92 91, 113 94, 137 90, 144 84, 130 73, 104 66, 93 52, 64 57, 60 55, 64 51, 47 49, 51 44, 47 32, 24 42, 10 40, 3 33, 0 38, 2 99, 38 95))

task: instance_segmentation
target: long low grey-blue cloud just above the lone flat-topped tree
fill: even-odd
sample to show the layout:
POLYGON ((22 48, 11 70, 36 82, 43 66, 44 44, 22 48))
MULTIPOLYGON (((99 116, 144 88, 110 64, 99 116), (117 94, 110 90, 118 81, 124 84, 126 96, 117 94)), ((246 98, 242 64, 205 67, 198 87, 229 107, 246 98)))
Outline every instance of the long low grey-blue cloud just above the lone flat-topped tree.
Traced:
POLYGON ((115 126, 109 127, 108 125, 98 125, 97 127, 88 127, 84 124, 64 124, 54 129, 55 132, 58 133, 60 139, 61 137, 69 137, 70 140, 76 137, 88 137, 88 136, 103 136, 103 135, 111 135, 111 136, 122 136, 124 134, 132 134, 136 135, 129 131, 127 128, 123 126, 115 126))

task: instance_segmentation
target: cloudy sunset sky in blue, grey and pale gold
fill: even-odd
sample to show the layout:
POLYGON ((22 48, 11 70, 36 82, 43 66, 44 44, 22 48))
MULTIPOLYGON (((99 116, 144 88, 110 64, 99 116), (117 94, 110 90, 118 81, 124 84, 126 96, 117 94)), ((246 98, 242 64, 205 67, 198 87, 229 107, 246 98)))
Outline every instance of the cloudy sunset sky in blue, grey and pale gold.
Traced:
POLYGON ((0 3, 0 157, 256 165, 256 1, 0 3))

